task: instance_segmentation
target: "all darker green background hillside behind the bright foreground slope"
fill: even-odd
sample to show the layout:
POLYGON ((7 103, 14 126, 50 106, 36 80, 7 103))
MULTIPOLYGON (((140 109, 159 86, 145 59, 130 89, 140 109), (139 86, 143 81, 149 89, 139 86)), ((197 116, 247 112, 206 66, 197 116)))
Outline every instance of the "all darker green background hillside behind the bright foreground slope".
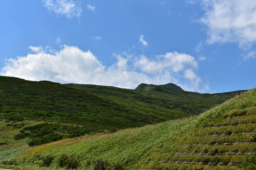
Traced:
POLYGON ((9 140, 0 140, 0 149, 25 138, 29 146, 42 145, 198 115, 242 92, 198 94, 175 84, 157 87, 168 93, 0 77, 1 124, 16 126, 7 126, 15 130, 9 140))

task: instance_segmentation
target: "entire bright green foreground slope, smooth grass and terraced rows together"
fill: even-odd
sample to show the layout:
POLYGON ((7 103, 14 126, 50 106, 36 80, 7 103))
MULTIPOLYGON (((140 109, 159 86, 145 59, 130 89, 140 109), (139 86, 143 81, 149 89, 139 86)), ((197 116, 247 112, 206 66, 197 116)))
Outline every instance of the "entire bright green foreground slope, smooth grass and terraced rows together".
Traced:
POLYGON ((92 169, 96 159, 127 169, 255 169, 255 115, 252 89, 193 118, 31 147, 11 163, 38 167, 50 155, 50 169, 58 169, 61 154, 67 154, 80 169, 92 169))

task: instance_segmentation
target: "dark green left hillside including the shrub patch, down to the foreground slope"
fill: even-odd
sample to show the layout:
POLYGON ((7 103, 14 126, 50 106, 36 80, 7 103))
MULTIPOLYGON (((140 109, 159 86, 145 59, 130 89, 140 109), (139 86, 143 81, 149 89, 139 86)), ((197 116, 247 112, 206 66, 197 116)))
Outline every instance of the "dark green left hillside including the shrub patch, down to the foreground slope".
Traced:
POLYGON ((140 112, 110 98, 50 81, 0 77, 0 132, 3 133, 0 149, 8 150, 15 142, 14 137, 20 143, 23 138, 30 137, 32 140, 26 142, 33 146, 91 132, 139 127, 188 116, 167 109, 158 114, 161 108, 149 105, 143 109, 149 111, 140 112), (31 120, 29 124, 28 120, 31 120), (9 132, 8 136, 4 131, 9 132))

